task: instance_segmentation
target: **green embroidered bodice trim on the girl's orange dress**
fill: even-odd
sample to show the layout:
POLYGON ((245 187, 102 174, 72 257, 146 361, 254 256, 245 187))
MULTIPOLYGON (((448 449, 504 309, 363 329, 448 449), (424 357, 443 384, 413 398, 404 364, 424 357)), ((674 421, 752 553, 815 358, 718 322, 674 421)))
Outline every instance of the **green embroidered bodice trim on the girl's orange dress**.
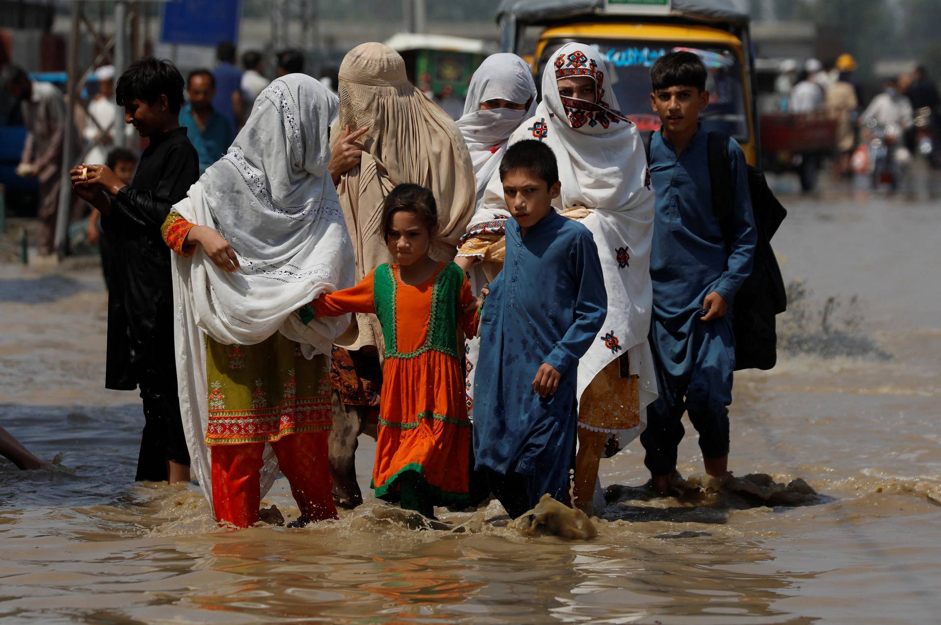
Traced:
POLYGON ((435 276, 431 288, 431 314, 428 319, 428 334, 424 345, 414 352, 399 352, 395 335, 397 331, 398 278, 394 267, 385 263, 375 269, 373 297, 375 314, 386 338, 386 358, 415 358, 424 352, 441 352, 459 358, 457 351, 457 306, 456 302, 464 281, 464 272, 450 262, 435 276))

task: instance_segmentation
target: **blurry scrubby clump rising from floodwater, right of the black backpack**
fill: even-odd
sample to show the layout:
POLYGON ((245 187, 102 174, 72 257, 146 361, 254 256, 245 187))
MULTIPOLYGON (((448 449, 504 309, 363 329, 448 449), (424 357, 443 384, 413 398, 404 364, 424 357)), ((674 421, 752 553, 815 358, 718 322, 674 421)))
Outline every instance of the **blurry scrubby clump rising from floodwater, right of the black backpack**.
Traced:
POLYGON ((863 327, 861 306, 855 295, 848 300, 829 297, 821 305, 802 281, 788 285, 788 311, 778 317, 778 348, 789 355, 821 358, 892 359, 863 327))

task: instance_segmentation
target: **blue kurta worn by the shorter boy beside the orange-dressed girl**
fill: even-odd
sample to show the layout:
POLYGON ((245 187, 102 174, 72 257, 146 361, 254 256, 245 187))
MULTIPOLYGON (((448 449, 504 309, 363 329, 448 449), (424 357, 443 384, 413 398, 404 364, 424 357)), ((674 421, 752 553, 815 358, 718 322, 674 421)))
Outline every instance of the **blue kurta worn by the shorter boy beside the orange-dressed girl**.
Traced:
POLYGON ((506 220, 506 258, 480 320, 473 443, 478 469, 532 476, 531 503, 566 501, 575 452, 578 361, 607 312, 598 248, 581 224, 552 211, 522 236, 506 220), (549 363, 553 396, 533 390, 549 363))

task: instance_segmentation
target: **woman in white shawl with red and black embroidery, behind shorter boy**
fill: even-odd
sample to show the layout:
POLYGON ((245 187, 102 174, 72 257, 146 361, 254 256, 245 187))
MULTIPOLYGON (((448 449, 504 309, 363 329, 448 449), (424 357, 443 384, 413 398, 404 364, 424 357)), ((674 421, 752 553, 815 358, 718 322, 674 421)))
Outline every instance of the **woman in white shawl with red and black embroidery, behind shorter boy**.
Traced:
MULTIPOLYGON (((616 435, 627 445, 638 436, 646 405, 657 398, 647 345, 654 194, 640 134, 617 110, 603 57, 587 44, 567 43, 550 59, 543 100, 508 145, 537 139, 552 148, 562 181, 556 209, 580 219, 598 245, 608 315, 579 361, 577 389, 575 503, 591 512, 605 443, 616 435)), ((482 210, 494 221, 509 218, 499 172, 487 184, 482 210)))

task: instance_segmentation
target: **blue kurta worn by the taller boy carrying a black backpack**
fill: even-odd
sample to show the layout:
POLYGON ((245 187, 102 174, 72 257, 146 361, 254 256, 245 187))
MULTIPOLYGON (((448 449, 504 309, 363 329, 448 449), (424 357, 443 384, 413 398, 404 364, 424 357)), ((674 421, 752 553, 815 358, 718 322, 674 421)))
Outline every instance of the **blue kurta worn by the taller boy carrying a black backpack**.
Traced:
POLYGON ((712 211, 707 134, 700 129, 679 156, 662 133, 654 133, 650 141, 650 179, 657 195, 650 253, 654 347, 667 374, 687 384, 696 359, 705 356, 702 351, 731 352, 721 365, 731 367, 727 370, 731 380, 733 302, 752 272, 758 242, 745 157, 730 139, 735 205, 731 249, 726 245, 712 211), (703 323, 699 320, 703 300, 713 290, 726 300, 729 314, 703 323))

